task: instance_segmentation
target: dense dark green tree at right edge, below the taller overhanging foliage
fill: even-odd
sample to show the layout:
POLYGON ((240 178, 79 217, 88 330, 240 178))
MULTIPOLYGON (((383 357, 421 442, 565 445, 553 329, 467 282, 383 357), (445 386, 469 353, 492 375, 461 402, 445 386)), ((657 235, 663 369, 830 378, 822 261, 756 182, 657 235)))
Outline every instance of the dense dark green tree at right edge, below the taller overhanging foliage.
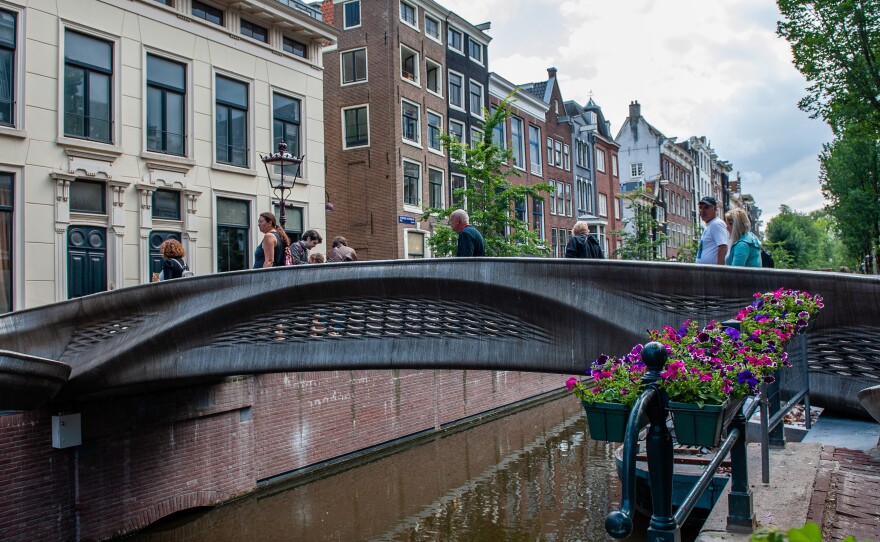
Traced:
POLYGON ((822 195, 834 217, 851 265, 869 256, 880 269, 880 143, 845 131, 819 155, 822 195))

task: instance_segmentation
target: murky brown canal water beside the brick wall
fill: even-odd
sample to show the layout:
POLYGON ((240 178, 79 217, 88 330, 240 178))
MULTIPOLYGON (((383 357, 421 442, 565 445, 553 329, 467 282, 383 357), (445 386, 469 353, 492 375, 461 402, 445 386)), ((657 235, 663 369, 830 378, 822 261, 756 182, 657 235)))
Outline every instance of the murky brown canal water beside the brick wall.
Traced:
MULTIPOLYGON (((620 499, 616 445, 586 431, 580 403, 562 397, 128 540, 610 540, 604 520, 620 499)), ((635 532, 645 529, 643 521, 635 532)))

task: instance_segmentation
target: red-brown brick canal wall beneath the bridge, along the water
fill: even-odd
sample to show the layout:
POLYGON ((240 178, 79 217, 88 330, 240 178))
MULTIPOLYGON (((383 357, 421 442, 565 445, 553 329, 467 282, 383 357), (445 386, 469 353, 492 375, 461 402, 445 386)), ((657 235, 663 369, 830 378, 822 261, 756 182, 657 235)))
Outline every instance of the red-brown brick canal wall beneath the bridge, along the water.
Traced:
POLYGON ((506 371, 334 371, 0 414, 0 540, 100 540, 364 448, 559 389, 506 371), (82 446, 51 447, 51 416, 82 446))

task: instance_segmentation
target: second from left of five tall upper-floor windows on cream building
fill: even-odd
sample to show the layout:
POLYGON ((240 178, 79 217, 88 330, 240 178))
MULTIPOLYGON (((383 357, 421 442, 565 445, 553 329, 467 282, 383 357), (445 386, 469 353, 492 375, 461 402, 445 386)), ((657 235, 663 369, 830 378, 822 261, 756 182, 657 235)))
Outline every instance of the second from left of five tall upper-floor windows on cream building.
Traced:
POLYGON ((110 143, 113 44, 64 33, 64 135, 110 143))

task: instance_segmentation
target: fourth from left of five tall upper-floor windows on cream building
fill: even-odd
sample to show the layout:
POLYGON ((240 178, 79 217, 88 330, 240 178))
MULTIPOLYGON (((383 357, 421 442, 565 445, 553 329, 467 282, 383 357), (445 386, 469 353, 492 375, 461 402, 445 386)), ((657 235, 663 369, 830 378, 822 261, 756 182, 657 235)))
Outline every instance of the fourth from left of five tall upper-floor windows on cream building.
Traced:
POLYGON ((248 85, 220 75, 217 83, 217 161, 248 166, 248 85))

